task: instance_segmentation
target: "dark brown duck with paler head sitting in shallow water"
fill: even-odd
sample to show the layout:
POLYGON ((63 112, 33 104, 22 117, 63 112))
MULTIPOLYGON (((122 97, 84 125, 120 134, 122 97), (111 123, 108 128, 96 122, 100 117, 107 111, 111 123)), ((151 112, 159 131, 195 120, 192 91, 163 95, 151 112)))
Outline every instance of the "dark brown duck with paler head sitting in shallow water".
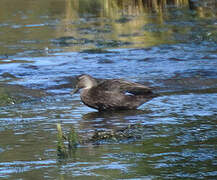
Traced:
POLYGON ((98 79, 82 74, 77 77, 75 89, 81 101, 98 111, 133 110, 158 95, 148 86, 124 79, 98 79))

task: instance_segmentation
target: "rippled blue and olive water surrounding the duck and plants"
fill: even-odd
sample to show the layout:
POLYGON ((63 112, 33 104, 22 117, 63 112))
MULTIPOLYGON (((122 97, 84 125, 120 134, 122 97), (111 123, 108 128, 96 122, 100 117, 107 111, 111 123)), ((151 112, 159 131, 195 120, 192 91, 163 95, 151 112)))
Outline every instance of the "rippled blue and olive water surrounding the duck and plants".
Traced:
POLYGON ((217 178, 216 2, 155 2, 0 2, 0 178, 217 178), (70 95, 82 73, 162 96, 99 114, 70 95), (145 128, 141 140, 61 159, 56 123, 81 134, 145 128))

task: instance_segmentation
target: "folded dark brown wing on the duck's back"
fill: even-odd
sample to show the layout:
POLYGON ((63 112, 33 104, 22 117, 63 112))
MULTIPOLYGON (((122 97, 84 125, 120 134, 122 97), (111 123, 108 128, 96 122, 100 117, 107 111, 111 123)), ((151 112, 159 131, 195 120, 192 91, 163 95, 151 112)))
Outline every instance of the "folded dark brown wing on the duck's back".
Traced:
POLYGON ((104 80, 97 86, 98 90, 115 91, 120 93, 132 93, 135 95, 143 95, 152 93, 151 88, 139 83, 129 82, 123 79, 104 80))

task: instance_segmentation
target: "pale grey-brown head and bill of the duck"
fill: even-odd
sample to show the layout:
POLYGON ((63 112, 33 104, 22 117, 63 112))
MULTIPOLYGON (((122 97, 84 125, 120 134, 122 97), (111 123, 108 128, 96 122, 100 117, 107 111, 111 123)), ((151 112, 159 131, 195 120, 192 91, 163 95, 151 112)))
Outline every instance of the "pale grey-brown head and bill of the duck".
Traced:
POLYGON ((80 75, 80 76, 78 76, 77 85, 71 94, 75 94, 80 89, 90 89, 96 85, 97 85, 96 79, 94 79, 90 75, 87 75, 87 74, 80 75))

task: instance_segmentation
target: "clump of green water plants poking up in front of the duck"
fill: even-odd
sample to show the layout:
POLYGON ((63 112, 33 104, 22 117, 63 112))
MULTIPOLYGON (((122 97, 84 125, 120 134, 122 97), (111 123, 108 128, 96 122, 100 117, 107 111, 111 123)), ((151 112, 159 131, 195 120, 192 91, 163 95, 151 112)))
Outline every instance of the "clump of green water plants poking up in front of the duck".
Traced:
MULTIPOLYGON (((151 127, 151 126, 150 126, 151 127)), ((57 124, 57 155, 60 158, 70 157, 72 150, 79 146, 129 143, 144 140, 147 134, 147 125, 132 124, 116 130, 95 130, 93 133, 78 134, 74 127, 63 133, 61 124, 57 124)))

